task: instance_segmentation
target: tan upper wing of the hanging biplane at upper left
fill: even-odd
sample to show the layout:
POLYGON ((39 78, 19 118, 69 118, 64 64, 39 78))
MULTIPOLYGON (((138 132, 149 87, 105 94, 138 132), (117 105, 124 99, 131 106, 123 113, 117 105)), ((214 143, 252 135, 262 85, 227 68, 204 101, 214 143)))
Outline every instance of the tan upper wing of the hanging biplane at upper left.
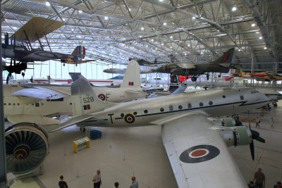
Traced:
POLYGON ((29 20, 23 27, 20 27, 13 35, 12 39, 16 39, 16 41, 30 41, 35 42, 37 39, 44 37, 50 32, 54 32, 54 30, 59 29, 63 23, 50 20, 42 17, 34 17, 29 20))

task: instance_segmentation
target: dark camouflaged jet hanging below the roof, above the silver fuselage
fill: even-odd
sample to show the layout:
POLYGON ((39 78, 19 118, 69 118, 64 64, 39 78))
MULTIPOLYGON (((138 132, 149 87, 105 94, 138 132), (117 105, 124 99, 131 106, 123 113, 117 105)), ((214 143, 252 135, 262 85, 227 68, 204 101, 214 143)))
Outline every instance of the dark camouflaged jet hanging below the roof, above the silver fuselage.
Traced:
POLYGON ((152 71, 157 73, 171 73, 173 75, 190 75, 193 82, 197 80, 199 75, 207 75, 207 80, 209 80, 209 73, 228 73, 229 69, 234 67, 233 63, 231 63, 233 54, 234 48, 229 49, 216 61, 209 63, 180 63, 173 58, 171 63, 165 63, 152 71))

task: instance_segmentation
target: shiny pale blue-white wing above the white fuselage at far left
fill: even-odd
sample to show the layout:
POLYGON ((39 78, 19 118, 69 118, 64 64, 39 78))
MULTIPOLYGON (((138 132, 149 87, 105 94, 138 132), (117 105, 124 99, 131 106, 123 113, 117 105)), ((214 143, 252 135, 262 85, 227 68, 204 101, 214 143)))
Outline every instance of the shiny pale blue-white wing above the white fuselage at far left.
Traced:
POLYGON ((17 92, 13 92, 11 96, 23 96, 32 99, 60 99, 67 96, 62 92, 55 91, 53 89, 47 89, 45 87, 29 87, 20 89, 17 92))

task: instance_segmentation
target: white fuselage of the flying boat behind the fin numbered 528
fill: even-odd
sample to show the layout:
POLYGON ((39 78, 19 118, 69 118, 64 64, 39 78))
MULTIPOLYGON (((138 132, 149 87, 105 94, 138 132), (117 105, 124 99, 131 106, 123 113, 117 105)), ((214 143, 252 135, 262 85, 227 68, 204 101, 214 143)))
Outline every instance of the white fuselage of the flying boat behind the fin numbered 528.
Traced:
MULTIPOLYGON (((63 90, 71 94, 70 86, 44 86, 50 89, 63 90)), ((4 115, 72 115, 71 95, 58 100, 37 100, 29 97, 11 96, 23 87, 20 85, 3 85, 4 90, 4 115), (33 101, 32 101, 33 100, 33 101), (30 102, 28 102, 30 101, 30 102)), ((124 88, 93 87, 97 96, 104 101, 119 103, 145 98, 146 92, 135 89, 135 93, 126 92, 124 88)))

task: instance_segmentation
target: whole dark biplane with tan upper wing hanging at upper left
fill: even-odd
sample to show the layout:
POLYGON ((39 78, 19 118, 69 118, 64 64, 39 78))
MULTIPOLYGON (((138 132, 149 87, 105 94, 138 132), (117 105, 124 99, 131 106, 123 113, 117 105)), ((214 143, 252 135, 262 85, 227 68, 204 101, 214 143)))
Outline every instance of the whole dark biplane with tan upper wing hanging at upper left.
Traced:
POLYGON ((11 58, 10 65, 4 66, 4 70, 8 70, 7 82, 12 73, 22 73, 24 76, 23 71, 27 69, 28 62, 60 60, 63 65, 65 63, 78 65, 79 63, 95 61, 82 61, 85 58, 84 46, 77 46, 72 54, 62 54, 51 50, 46 35, 54 32, 62 25, 63 23, 56 20, 34 17, 11 36, 11 44, 8 42, 8 33, 6 33, 5 42, 2 44, 2 57, 11 58), (42 37, 45 37, 50 51, 44 50, 44 46, 40 41, 42 37), (32 42, 36 41, 39 42, 39 48, 35 49, 32 46, 32 42))

